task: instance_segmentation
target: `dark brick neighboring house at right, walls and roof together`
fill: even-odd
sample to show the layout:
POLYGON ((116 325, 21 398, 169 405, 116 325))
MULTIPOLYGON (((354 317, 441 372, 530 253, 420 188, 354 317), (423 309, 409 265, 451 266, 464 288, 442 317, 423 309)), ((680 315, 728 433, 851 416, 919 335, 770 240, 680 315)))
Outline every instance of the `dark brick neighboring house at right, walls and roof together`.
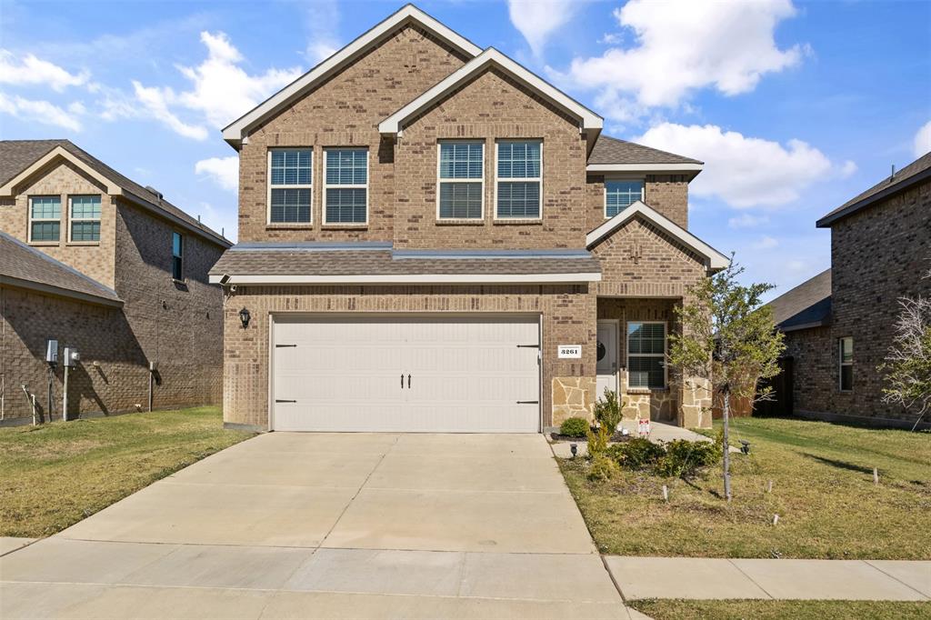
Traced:
POLYGON ((883 402, 877 367, 893 344, 901 297, 931 295, 931 153, 817 222, 831 268, 770 303, 786 335, 798 415, 908 426, 883 402))

